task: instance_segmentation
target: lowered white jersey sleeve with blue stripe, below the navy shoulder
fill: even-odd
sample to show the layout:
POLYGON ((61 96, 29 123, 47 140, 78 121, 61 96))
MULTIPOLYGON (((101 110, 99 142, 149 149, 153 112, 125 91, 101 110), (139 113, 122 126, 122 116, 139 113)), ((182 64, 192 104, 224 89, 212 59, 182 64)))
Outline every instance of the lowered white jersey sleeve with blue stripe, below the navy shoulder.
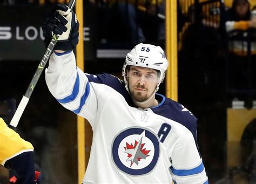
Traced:
POLYGON ((171 162, 174 183, 208 183, 205 167, 192 134, 179 138, 172 151, 171 162))

